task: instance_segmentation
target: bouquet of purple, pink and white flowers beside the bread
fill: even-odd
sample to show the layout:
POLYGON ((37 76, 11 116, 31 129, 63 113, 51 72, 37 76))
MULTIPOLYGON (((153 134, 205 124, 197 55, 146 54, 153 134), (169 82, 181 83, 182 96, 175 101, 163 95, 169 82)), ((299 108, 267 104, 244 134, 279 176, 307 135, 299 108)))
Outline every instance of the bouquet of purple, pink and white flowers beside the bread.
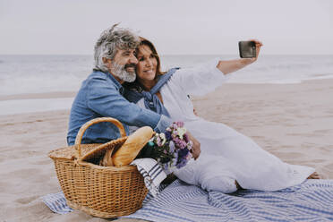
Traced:
POLYGON ((156 159, 166 174, 187 164, 192 158, 192 145, 183 122, 171 124, 165 133, 156 133, 147 144, 150 158, 156 159))

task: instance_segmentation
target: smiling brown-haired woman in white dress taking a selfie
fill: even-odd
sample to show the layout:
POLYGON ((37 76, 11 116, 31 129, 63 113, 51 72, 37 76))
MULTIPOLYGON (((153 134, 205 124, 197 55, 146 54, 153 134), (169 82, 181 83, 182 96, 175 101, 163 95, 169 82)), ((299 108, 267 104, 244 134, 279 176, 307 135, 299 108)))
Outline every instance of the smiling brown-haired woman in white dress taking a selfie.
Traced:
POLYGON ((216 59, 199 67, 162 73, 156 48, 141 38, 136 50, 137 79, 126 84, 125 98, 174 121, 184 121, 201 142, 201 157, 174 171, 188 184, 225 193, 235 192, 238 184, 244 189, 277 191, 301 184, 307 178, 319 178, 314 168, 287 164, 226 124, 209 122, 193 114, 188 95, 205 95, 226 81, 230 73, 254 63, 262 46, 260 41, 254 41, 255 58, 216 59))

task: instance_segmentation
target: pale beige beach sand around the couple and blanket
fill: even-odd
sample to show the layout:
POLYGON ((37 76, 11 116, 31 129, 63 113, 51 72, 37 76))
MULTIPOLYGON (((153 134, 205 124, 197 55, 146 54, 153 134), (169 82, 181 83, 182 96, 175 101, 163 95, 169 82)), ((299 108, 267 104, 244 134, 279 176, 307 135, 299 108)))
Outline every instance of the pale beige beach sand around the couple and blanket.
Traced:
MULTIPOLYGON (((314 166, 323 178, 333 179, 332 95, 333 80, 224 84, 193 98, 193 103, 205 119, 243 132, 287 163, 314 166)), ((49 93, 0 99, 56 97, 49 93)), ((105 221, 79 210, 57 215, 40 199, 60 191, 47 153, 65 146, 68 115, 69 110, 0 115, 0 221, 105 221)))

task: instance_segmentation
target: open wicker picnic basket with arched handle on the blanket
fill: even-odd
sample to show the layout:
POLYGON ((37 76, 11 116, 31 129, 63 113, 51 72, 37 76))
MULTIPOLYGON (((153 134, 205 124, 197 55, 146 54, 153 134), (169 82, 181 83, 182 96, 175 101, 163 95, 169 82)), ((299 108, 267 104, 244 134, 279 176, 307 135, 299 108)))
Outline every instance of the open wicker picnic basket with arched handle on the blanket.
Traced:
POLYGON ((119 121, 110 117, 97 118, 82 125, 74 146, 49 152, 68 206, 99 218, 129 215, 141 208, 148 190, 135 166, 91 163, 104 156, 107 149, 119 149, 126 139, 124 126, 119 121), (88 127, 101 122, 115 124, 121 138, 104 144, 81 144, 88 127))

